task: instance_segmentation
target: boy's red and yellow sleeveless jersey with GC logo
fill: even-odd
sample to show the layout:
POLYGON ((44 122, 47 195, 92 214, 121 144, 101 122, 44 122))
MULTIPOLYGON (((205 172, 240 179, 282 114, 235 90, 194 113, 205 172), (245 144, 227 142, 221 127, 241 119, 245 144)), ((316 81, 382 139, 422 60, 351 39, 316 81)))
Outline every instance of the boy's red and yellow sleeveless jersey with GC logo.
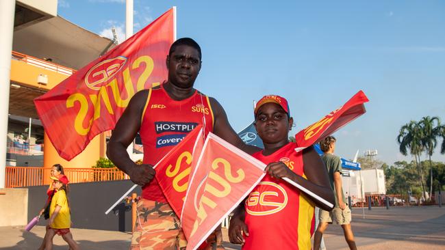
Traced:
MULTIPOLYGON (((281 161, 305 178, 303 152, 297 153, 295 148, 296 143, 288 143, 269 156, 264 156, 263 151, 253 156, 265 164, 281 161)), ((244 236, 243 250, 311 249, 315 206, 296 187, 266 174, 244 206, 249 236, 244 236)))

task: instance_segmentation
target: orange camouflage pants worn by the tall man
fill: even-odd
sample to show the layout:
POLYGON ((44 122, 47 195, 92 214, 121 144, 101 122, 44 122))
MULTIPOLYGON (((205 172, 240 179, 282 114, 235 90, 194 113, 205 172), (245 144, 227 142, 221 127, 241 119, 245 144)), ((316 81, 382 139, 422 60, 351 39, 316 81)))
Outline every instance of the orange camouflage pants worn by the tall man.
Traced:
MULTIPOLYGON (((200 250, 224 249, 220 227, 205 240, 200 250)), ((168 203, 140 199, 138 219, 131 238, 131 250, 183 250, 187 240, 181 223, 168 203)))

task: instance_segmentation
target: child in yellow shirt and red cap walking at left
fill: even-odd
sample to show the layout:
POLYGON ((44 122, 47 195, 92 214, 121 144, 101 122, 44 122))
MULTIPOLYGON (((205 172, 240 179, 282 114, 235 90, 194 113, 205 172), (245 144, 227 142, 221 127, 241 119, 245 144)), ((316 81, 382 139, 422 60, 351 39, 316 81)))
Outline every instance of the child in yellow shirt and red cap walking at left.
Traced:
POLYGON ((58 176, 51 176, 51 179, 54 180, 53 186, 58 191, 51 201, 45 249, 53 249, 53 238, 55 234, 58 234, 68 243, 70 249, 77 250, 79 247, 73 240, 73 234, 70 232, 71 212, 68 197, 66 196, 68 193, 68 178, 60 174, 58 176))

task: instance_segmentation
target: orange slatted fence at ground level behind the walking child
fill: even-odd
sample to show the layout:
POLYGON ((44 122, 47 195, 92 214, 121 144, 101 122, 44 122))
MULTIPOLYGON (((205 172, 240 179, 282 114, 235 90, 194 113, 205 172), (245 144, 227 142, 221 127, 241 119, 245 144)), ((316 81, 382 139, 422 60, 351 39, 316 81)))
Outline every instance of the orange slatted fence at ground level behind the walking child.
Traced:
MULTIPOLYGON (((5 188, 39 186, 49 183, 51 167, 6 167, 5 188)), ((109 169, 65 168, 71 183, 126 180, 128 176, 117 167, 109 169)))

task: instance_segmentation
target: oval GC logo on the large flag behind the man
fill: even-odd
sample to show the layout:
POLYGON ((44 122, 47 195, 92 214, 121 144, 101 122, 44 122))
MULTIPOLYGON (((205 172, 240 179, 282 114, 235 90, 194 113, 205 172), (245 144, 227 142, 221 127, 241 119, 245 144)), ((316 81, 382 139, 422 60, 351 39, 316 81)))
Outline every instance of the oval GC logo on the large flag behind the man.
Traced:
POLYGON ((99 90, 114 75, 119 72, 127 62, 127 57, 118 56, 99 62, 86 73, 85 84, 93 90, 99 90))

